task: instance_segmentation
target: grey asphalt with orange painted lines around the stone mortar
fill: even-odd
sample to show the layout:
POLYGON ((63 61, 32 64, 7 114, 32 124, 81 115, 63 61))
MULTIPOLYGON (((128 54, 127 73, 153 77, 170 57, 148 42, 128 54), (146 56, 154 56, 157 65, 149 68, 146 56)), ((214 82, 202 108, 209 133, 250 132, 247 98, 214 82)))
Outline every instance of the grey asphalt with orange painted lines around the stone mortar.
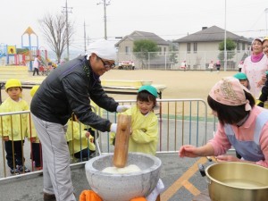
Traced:
MULTIPOLYGON (((161 201, 191 201, 207 188, 205 177, 198 170, 198 163, 213 164, 206 157, 180 158, 178 153, 157 154, 162 161, 161 179, 165 186, 161 201)), ((90 189, 84 169, 85 163, 71 166, 74 193, 79 200, 80 193, 90 189)), ((43 176, 32 172, 0 180, 0 200, 41 201, 43 200, 43 176)), ((116 193, 116 192, 115 192, 116 193)))

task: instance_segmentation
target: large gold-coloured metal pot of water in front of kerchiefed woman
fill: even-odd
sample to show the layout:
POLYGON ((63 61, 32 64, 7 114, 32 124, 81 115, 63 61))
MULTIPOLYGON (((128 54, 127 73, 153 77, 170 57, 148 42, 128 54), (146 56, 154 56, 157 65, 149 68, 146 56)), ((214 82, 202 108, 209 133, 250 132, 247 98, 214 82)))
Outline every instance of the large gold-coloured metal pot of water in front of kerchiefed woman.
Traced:
POLYGON ((226 162, 209 165, 205 174, 200 172, 207 177, 212 201, 268 200, 268 168, 251 163, 226 162))

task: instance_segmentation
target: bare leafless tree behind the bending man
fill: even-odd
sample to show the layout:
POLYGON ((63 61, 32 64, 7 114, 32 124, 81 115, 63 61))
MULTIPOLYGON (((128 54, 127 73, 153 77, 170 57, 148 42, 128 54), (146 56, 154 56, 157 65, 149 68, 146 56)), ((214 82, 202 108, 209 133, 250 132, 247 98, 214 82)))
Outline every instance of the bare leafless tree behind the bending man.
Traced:
POLYGON ((63 51, 67 48, 67 38, 71 44, 71 37, 74 34, 73 23, 71 21, 66 23, 64 14, 48 13, 39 20, 39 24, 47 45, 56 54, 57 60, 61 61, 63 51), (66 26, 68 26, 68 36, 66 26))

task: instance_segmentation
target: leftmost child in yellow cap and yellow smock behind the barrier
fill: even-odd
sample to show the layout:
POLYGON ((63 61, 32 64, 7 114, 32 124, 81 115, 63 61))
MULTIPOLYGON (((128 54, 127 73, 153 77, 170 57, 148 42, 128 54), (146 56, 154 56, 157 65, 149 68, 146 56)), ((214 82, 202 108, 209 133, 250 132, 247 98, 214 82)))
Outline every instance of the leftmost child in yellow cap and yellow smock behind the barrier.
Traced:
MULTIPOLYGON (((29 105, 21 98, 21 81, 10 79, 5 82, 5 92, 8 97, 0 105, 0 113, 12 113, 28 111, 29 105)), ((28 137, 29 115, 22 113, 20 115, 4 115, 3 127, 0 130, 1 137, 4 140, 4 149, 6 152, 6 162, 10 168, 11 174, 20 174, 30 172, 24 165, 23 144, 24 139, 28 137)))

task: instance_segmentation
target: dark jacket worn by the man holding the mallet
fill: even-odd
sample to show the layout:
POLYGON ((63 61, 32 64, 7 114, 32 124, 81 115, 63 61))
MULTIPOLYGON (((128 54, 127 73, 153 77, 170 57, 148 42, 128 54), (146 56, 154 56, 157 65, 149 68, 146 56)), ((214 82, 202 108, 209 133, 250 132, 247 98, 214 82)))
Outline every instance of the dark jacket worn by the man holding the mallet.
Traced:
POLYGON ((91 111, 90 99, 109 112, 115 112, 118 106, 106 95, 86 57, 80 56, 47 76, 32 98, 30 111, 41 120, 62 125, 73 112, 82 123, 96 130, 110 131, 111 122, 91 111))

